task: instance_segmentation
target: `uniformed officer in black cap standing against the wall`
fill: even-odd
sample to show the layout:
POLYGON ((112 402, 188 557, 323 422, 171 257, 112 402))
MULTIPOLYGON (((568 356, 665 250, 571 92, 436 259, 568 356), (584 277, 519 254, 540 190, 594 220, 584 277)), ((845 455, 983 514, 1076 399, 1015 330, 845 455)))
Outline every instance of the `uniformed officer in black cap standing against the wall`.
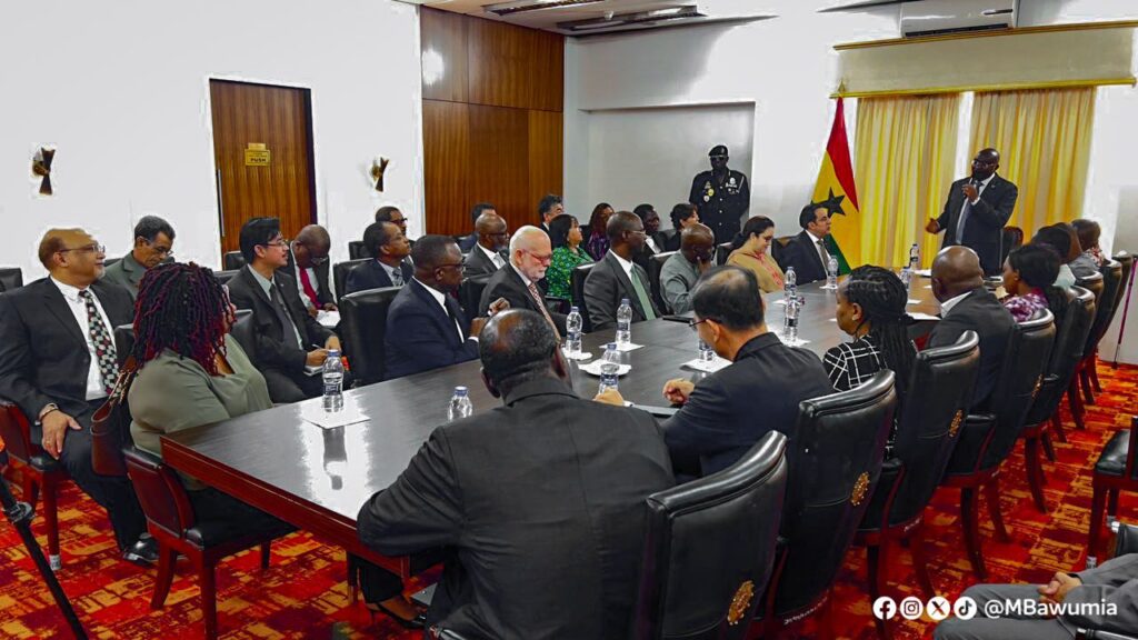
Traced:
POLYGON ((700 221, 715 232, 716 244, 729 243, 751 207, 751 186, 742 172, 727 169, 727 147, 716 145, 708 157, 711 171, 695 175, 687 202, 699 208, 700 221))

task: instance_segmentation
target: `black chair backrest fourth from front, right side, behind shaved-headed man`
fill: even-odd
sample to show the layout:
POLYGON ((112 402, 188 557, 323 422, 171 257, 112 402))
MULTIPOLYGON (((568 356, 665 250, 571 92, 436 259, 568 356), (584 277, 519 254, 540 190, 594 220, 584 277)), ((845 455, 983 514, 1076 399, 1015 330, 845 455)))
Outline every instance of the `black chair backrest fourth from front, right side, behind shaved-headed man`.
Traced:
POLYGON ((1055 317, 1047 310, 1019 323, 1016 330, 1012 331, 1004 351, 1000 376, 991 395, 990 409, 996 416, 996 428, 983 451, 980 469, 991 469, 999 465, 1015 446, 1028 411, 1047 375, 1055 333, 1055 317))

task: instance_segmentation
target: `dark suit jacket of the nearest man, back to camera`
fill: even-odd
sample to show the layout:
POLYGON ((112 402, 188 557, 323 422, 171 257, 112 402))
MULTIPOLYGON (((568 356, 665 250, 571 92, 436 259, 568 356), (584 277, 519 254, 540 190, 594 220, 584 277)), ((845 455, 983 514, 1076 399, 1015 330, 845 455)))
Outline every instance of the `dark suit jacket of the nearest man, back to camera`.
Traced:
POLYGON ((435 429, 360 540, 453 549, 428 622, 464 638, 627 638, 644 499, 674 483, 655 421, 549 378, 503 404, 435 429))

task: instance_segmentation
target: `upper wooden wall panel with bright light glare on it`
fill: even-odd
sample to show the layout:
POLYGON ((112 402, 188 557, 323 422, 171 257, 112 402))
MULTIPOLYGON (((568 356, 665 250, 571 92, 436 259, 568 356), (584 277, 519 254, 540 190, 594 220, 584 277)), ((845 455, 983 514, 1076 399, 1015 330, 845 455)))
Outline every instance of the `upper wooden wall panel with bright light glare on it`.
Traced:
POLYGON ((420 9, 419 15, 424 71, 442 71, 442 76, 429 84, 424 73, 423 99, 469 101, 467 24, 470 18, 426 7, 420 9))

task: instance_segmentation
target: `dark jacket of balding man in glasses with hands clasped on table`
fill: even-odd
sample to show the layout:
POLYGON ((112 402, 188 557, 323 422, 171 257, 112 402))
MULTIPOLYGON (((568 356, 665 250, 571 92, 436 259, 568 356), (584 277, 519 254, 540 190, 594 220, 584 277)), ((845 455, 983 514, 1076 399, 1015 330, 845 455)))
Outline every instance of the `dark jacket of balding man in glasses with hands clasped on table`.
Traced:
POLYGON ((743 345, 729 367, 695 385, 663 424, 663 438, 677 471, 714 474, 772 430, 793 440, 798 404, 832 393, 817 355, 762 334, 743 345))

